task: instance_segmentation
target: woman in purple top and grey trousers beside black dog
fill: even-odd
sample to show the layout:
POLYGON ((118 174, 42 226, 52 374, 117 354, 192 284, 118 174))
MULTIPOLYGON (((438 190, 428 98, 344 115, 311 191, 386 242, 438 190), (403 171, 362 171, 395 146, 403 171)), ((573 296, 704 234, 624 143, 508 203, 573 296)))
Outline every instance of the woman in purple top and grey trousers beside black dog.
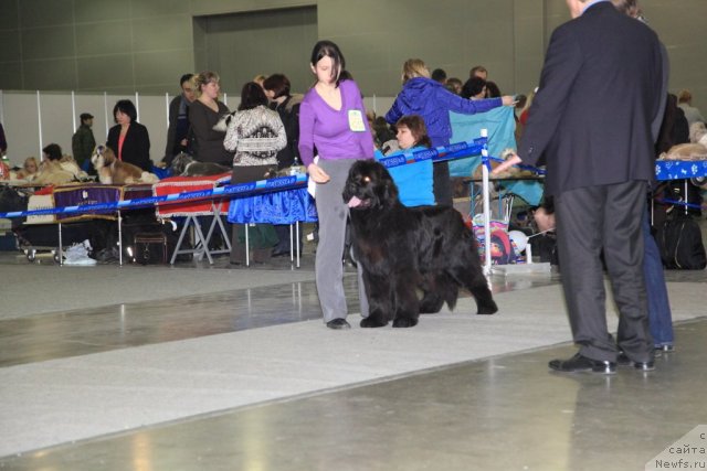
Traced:
MULTIPOLYGON (((299 154, 316 183, 319 244, 315 260, 317 293, 329 329, 349 329, 344 296, 341 256, 348 207, 341 193, 349 168, 360 159, 373 158, 373 138, 366 119, 361 93, 354 81, 341 81, 346 63, 339 47, 319 41, 312 51, 310 67, 316 84, 299 107, 299 154), (319 156, 315 163, 315 148, 319 156)), ((368 315, 368 300, 358 268, 361 315, 368 315)))

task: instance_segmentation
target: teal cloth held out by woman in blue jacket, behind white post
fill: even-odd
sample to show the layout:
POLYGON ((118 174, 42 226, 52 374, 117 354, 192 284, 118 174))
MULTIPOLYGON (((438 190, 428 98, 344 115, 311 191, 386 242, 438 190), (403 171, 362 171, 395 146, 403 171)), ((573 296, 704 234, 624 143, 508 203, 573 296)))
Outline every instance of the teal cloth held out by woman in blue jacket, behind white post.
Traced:
MULTIPOLYGON (((482 136, 482 129, 488 130, 488 154, 499 158, 505 149, 516 149, 516 120, 513 107, 503 106, 476 115, 450 113, 452 139, 450 142, 469 141, 482 136)), ((471 176, 482 163, 481 157, 468 157, 450 161, 451 176, 471 176)), ((536 206, 542 199, 542 184, 536 181, 516 181, 502 183, 506 192, 524 199, 536 206)))

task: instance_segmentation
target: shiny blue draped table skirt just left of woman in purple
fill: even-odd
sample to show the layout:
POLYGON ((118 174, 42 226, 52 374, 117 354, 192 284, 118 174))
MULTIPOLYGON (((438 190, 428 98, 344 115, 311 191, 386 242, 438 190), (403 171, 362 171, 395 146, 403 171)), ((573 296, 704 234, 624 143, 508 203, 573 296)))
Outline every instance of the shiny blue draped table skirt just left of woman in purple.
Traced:
POLYGON ((317 208, 306 188, 231 200, 229 223, 314 223, 317 208))

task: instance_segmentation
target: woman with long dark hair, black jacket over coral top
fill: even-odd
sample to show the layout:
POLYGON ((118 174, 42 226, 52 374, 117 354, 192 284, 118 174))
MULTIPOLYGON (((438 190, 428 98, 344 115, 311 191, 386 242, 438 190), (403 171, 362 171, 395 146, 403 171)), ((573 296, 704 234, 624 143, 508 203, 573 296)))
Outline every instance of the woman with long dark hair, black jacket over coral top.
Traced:
POLYGON ((149 172, 152 170, 150 160, 150 137, 147 128, 137 122, 137 110, 129 99, 120 99, 113 107, 115 125, 108 130, 108 146, 118 160, 131 163, 149 172))

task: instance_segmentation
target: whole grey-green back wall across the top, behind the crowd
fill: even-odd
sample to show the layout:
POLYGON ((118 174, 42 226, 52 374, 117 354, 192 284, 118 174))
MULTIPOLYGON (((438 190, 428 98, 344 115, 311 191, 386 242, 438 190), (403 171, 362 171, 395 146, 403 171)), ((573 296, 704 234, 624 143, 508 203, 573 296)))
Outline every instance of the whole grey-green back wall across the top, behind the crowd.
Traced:
MULTIPOLYGON (((692 89, 707 113, 707 0, 641 4, 668 49, 671 89, 692 89)), ((564 0, 0 0, 0 90, 154 95, 160 110, 150 110, 150 136, 160 149, 163 96, 178 93, 184 72, 219 72, 229 104, 260 73, 283 72, 303 92, 313 43, 330 39, 367 103, 384 113, 409 57, 462 79, 483 64, 504 93, 528 93, 552 30, 568 19, 564 0)), ((0 119, 18 113, 0 100, 0 119)), ((11 142, 36 135, 12 121, 11 142)), ((61 126, 71 121, 66 113, 61 126)))

